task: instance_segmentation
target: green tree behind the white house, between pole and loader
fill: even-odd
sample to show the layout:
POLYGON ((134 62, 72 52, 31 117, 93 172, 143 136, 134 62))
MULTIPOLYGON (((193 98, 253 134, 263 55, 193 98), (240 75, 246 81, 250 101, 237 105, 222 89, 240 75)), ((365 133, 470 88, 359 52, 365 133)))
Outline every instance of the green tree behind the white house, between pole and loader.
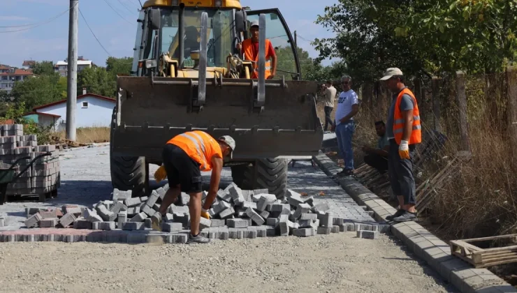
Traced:
POLYGON ((85 68, 78 75, 78 89, 89 93, 115 98, 115 80, 103 67, 85 68))

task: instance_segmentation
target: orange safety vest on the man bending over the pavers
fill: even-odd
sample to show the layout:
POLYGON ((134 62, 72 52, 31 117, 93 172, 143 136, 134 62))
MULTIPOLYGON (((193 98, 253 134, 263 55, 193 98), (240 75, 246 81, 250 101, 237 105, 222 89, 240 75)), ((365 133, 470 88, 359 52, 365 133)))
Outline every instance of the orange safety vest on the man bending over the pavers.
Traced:
POLYGON ((167 144, 175 144, 180 147, 192 160, 201 164, 199 170, 204 172, 212 170, 212 157, 214 155, 223 158, 219 142, 203 131, 195 130, 176 135, 167 144))

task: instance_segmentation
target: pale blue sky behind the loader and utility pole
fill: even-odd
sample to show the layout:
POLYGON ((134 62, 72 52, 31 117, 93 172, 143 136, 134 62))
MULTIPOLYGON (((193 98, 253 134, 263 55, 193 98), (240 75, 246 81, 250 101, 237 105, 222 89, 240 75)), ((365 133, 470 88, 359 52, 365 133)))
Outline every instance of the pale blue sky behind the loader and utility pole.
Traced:
MULTIPOLYGON (((141 0, 144 3, 145 0, 141 0)), ((241 0, 253 10, 278 8, 291 33, 298 32, 298 46, 317 57, 307 40, 330 38, 333 33, 314 21, 337 0, 241 0), (305 39, 305 40, 304 40, 305 39)), ((51 60, 68 56, 68 0, 1 0, 0 64, 22 67, 24 60, 51 60), (59 16, 58 16, 59 15, 59 16), (33 27, 16 27, 38 24, 33 27)), ((109 57, 133 57, 138 0, 79 0, 78 56, 105 66, 109 57), (109 5, 108 5, 109 4, 109 5), (107 51, 107 52, 105 52, 107 51), (108 55, 109 53, 109 55, 108 55)), ((325 61, 324 63, 330 63, 325 61)))

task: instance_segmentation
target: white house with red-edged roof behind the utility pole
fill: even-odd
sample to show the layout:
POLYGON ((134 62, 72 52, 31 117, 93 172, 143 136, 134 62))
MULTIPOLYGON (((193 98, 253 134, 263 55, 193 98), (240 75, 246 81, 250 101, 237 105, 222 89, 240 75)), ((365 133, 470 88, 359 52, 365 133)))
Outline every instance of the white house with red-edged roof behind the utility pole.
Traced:
MULTIPOLYGON (((110 127, 111 115, 116 100, 94 93, 84 93, 77 97, 75 107, 75 127, 110 127)), ((54 131, 65 130, 66 100, 34 107, 34 112, 24 115, 41 126, 54 126, 54 131)))

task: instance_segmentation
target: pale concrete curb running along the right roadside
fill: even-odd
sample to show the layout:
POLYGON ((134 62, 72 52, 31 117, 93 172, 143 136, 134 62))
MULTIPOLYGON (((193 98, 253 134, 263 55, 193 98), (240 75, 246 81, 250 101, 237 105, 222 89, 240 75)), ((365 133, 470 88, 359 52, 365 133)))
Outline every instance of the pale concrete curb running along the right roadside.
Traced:
MULTIPOLYGON (((314 162, 328 176, 334 176, 341 169, 325 153, 314 156, 314 162)), ((368 206, 374 212, 375 220, 386 220, 396 209, 365 188, 352 177, 337 180, 342 188, 358 203, 368 206)), ((488 269, 474 269, 458 257, 451 255, 449 245, 425 230, 416 222, 398 223, 391 226, 391 232, 415 255, 425 260, 440 276, 452 283, 460 292, 496 293, 517 292, 516 288, 495 276, 488 269)))

